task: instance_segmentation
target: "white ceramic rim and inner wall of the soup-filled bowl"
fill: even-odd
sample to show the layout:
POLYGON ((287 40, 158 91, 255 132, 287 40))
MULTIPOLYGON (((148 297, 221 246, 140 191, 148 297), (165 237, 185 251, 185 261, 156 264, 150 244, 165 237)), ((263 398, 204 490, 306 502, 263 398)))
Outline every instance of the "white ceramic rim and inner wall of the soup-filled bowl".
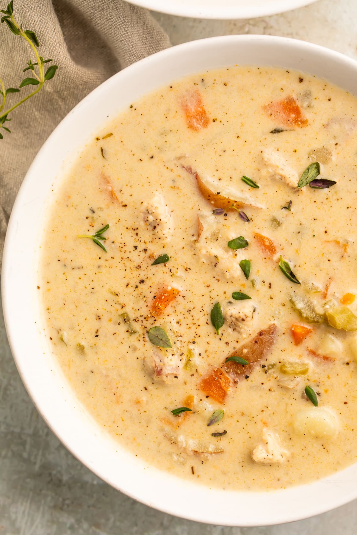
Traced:
POLYGON ((166 513, 210 524, 257 526, 306 518, 356 498, 357 463, 318 482, 269 493, 210 489, 147 466, 103 433, 64 381, 43 333, 36 290, 41 239, 36 242, 34 236, 41 238, 48 198, 52 186, 58 187, 64 160, 75 157, 107 117, 115 117, 142 91, 236 63, 297 68, 351 92, 357 88, 357 62, 351 58, 264 35, 185 43, 127 67, 69 113, 31 165, 6 234, 2 293, 6 331, 22 381, 45 422, 75 457, 108 484, 166 513))

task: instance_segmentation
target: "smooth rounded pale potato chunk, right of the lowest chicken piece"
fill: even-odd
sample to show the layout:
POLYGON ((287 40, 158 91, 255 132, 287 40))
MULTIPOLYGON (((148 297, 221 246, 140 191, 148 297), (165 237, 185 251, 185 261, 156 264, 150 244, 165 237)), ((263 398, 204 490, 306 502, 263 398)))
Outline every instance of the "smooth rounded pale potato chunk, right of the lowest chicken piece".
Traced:
POLYGON ((297 412, 293 418, 293 427, 297 434, 316 438, 333 437, 338 432, 336 416, 321 407, 297 412))

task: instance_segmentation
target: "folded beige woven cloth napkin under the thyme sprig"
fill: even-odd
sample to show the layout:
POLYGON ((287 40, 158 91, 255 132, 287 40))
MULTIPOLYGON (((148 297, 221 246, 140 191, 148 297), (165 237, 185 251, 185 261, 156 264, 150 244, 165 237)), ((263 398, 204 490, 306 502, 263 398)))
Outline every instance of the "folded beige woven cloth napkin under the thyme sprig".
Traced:
MULTIPOLYGON (((6 9, 7 2, 0 0, 0 9, 6 9)), ((40 54, 54 59, 58 71, 39 94, 9 114, 11 122, 5 126, 11 134, 1 129, 0 262, 12 204, 48 135, 101 82, 170 45, 148 11, 123 0, 14 0, 14 17, 24 29, 34 30, 40 54)), ((22 75, 22 69, 29 59, 35 61, 33 56, 25 39, 0 25, 0 79, 5 88, 19 87, 22 78, 31 73, 22 75)), ((6 109, 20 94, 25 96, 33 89, 27 86, 21 93, 9 94, 6 109)))

